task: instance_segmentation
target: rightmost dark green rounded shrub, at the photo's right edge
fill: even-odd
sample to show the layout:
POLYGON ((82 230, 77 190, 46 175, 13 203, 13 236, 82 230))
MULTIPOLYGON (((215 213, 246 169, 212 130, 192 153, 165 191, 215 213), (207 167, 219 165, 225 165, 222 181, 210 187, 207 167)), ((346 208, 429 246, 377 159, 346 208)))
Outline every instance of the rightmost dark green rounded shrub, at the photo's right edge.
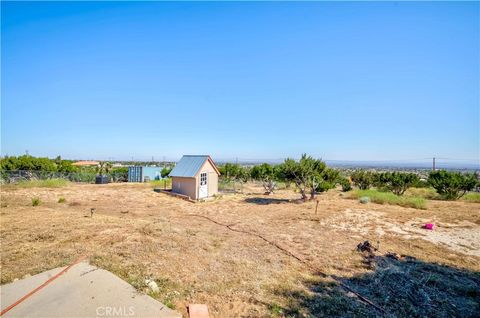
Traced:
POLYGON ((445 170, 433 171, 428 176, 428 182, 446 200, 457 200, 473 190, 477 185, 474 173, 449 172, 445 170))

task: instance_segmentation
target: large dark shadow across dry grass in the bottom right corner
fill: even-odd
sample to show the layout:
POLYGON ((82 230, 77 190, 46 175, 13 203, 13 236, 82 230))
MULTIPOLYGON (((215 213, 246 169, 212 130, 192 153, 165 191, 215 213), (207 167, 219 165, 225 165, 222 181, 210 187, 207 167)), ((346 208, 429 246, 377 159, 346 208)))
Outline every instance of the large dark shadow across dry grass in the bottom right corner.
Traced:
POLYGON ((425 263, 413 257, 366 258, 371 272, 352 278, 304 281, 304 289, 277 288, 287 300, 269 304, 277 317, 479 317, 480 273, 425 263), (385 312, 360 300, 339 282, 385 312))

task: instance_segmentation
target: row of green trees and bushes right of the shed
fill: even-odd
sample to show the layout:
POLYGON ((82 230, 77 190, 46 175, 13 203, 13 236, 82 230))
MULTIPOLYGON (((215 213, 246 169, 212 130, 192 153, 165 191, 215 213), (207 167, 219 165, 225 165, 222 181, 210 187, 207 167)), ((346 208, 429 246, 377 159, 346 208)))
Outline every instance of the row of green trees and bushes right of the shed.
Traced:
POLYGON ((260 181, 265 194, 271 194, 278 182, 287 187, 295 185, 303 200, 314 199, 318 193, 326 192, 341 185, 343 191, 352 186, 361 190, 376 187, 402 196, 410 187, 432 187, 444 199, 457 200, 468 191, 480 187, 478 175, 445 170, 430 172, 427 180, 422 180, 411 172, 375 172, 357 170, 350 176, 344 176, 339 170, 327 167, 321 159, 303 154, 299 160, 286 159, 283 163, 270 165, 263 163, 253 167, 227 163, 219 167, 222 177, 227 181, 260 181))

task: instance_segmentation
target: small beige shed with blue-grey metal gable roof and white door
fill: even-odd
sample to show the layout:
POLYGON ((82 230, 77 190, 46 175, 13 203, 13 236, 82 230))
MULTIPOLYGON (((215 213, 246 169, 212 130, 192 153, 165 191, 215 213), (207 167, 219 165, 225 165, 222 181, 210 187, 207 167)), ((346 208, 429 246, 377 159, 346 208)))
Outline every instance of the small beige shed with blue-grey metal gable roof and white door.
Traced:
POLYGON ((198 200, 218 193, 220 172, 208 155, 185 155, 170 172, 172 192, 198 200))

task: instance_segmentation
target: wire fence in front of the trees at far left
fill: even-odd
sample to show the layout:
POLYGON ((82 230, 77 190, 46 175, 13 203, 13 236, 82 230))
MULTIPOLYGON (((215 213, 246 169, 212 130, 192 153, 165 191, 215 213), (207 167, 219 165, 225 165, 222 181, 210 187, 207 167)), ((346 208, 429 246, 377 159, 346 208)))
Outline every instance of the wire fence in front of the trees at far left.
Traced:
MULTIPOLYGON (((122 171, 110 171, 106 174, 110 182, 127 182, 128 175, 122 171)), ((28 171, 28 170, 2 170, 0 183, 18 183, 32 180, 64 179, 71 182, 94 183, 97 173, 93 171, 58 172, 58 171, 28 171)))

